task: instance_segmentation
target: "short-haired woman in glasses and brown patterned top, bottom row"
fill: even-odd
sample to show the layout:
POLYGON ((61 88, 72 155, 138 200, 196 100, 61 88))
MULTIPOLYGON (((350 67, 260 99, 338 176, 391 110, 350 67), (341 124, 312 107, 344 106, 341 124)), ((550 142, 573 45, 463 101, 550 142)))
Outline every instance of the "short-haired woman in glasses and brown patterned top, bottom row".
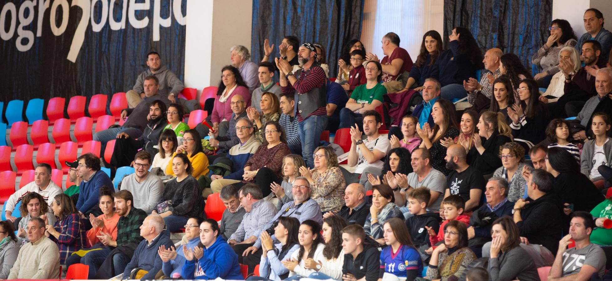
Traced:
POLYGON ((468 229, 461 221, 449 221, 444 226, 444 243, 431 253, 427 277, 429 280, 457 280, 476 260, 476 254, 468 247, 468 229))

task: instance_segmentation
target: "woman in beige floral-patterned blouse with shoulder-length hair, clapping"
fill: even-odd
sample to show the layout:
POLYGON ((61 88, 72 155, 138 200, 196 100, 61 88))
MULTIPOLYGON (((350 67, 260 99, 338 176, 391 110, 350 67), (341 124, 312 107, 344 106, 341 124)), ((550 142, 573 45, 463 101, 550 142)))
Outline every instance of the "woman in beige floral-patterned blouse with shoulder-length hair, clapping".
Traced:
POLYGON ((331 146, 319 146, 315 149, 315 168, 308 170, 300 167, 302 177, 310 182, 310 197, 314 199, 321 212, 338 212, 344 205, 346 181, 338 165, 338 157, 331 146))

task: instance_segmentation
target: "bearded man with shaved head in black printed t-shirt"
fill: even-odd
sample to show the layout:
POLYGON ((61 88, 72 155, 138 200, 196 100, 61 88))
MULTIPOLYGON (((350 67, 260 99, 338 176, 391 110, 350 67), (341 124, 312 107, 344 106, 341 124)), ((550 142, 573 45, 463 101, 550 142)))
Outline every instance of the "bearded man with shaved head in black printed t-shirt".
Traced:
POLYGON ((465 212, 479 207, 480 196, 485 189, 482 173, 466 162, 466 151, 461 144, 453 144, 446 150, 446 168, 450 172, 444 197, 458 195, 465 201, 465 212))

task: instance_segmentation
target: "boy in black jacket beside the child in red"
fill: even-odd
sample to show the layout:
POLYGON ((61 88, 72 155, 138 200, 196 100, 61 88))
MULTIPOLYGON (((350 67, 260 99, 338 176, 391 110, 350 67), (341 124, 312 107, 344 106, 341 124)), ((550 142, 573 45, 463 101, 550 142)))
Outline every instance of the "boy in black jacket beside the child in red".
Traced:
POLYGON ((431 193, 427 187, 417 188, 408 195, 408 210, 414 216, 406 220, 406 226, 412 237, 412 243, 417 249, 422 246, 431 246, 426 227, 435 230, 440 226, 438 213, 428 213, 426 210, 430 199, 431 193))

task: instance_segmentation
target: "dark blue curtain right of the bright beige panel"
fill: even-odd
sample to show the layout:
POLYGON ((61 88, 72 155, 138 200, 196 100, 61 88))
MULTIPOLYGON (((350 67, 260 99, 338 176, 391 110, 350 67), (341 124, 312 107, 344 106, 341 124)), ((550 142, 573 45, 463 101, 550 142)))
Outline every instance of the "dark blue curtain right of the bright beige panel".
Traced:
POLYGON ((444 0, 444 41, 457 26, 467 27, 482 53, 500 48, 514 53, 533 74, 531 56, 550 35, 553 0, 444 0))

